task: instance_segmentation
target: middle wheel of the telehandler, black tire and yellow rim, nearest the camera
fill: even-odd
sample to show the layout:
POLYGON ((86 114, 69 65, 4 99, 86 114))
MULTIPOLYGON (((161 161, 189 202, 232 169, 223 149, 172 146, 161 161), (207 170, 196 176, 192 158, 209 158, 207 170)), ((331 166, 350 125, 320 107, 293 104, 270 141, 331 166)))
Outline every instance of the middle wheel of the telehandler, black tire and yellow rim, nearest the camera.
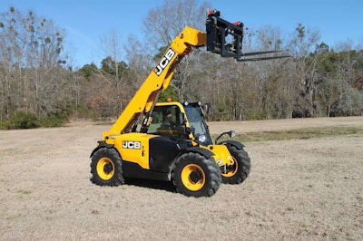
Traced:
POLYGON ((176 159, 172 183, 179 193, 188 197, 211 197, 221 185, 221 169, 213 159, 188 152, 176 159))

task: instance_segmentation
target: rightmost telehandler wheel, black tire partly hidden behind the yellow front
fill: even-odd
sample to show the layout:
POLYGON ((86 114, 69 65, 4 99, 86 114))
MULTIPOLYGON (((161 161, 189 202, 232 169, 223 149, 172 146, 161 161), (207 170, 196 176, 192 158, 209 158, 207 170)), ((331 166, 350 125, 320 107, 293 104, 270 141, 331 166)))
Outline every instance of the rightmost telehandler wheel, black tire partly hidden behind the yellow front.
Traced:
POLYGON ((221 174, 223 183, 240 184, 250 174, 250 157, 244 149, 237 149, 234 146, 228 145, 231 156, 234 160, 231 169, 227 173, 221 174))

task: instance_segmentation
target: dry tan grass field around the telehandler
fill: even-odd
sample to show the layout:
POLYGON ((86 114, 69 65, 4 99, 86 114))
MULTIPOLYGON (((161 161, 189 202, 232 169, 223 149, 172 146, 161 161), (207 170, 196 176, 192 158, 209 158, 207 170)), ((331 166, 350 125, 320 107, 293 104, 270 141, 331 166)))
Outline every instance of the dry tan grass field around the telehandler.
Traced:
MULTIPOLYGON (((211 130, 353 126, 363 117, 210 123, 211 130)), ((211 198, 169 182, 91 183, 109 125, 0 130, 0 240, 362 240, 363 135, 249 142, 252 169, 211 198)))

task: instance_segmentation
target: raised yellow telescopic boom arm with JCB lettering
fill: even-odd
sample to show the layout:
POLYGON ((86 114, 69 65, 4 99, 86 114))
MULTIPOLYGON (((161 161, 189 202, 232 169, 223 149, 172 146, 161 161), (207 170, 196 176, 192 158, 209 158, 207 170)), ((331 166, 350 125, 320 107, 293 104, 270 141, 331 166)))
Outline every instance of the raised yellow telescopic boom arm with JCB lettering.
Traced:
POLYGON ((152 107, 157 101, 159 93, 168 88, 176 65, 185 55, 191 53, 193 47, 204 46, 206 43, 207 35, 205 33, 186 26, 182 33, 172 40, 162 55, 162 59, 142 83, 118 120, 108 132, 103 133, 103 140, 113 139, 121 133, 136 131, 138 121, 145 114, 146 117, 140 130, 140 132, 144 132, 144 129, 150 124, 152 107))

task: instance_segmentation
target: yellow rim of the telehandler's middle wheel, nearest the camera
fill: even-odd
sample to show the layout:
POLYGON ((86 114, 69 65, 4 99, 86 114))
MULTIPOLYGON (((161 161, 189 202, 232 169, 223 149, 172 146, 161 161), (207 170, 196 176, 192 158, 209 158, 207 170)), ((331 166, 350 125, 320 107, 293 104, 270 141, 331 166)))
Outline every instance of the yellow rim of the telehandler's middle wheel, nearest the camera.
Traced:
POLYGON ((205 174, 200 166, 189 164, 182 169, 182 184, 191 191, 198 191, 205 184, 205 174), (194 176, 194 178, 191 177, 194 176), (198 176, 196 180, 195 176, 198 176))

